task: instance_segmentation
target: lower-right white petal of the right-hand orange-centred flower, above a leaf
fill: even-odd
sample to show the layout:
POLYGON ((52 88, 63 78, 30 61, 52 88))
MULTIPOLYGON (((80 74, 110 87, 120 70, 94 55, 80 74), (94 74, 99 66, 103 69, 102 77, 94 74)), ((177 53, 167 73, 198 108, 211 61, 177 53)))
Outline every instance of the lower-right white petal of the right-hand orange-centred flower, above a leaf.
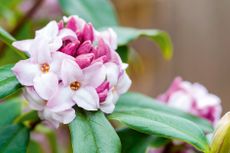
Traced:
POLYGON ((99 108, 99 97, 92 87, 82 87, 73 96, 77 105, 85 110, 97 110, 99 108))

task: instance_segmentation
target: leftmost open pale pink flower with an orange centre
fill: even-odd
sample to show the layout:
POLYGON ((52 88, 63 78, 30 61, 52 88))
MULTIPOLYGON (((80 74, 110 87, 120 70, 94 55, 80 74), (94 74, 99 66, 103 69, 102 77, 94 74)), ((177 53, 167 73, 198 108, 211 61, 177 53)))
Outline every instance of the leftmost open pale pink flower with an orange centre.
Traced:
POLYGON ((48 99, 57 89, 56 73, 58 73, 60 59, 65 55, 47 54, 49 49, 46 42, 41 40, 39 43, 40 45, 32 50, 37 55, 18 62, 12 70, 22 85, 34 86, 39 96, 48 99))

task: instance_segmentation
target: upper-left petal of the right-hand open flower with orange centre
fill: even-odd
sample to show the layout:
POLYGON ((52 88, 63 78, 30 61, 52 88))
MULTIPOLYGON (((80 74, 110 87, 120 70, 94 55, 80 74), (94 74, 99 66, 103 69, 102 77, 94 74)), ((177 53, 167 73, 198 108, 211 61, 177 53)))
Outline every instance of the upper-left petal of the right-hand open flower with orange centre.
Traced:
POLYGON ((61 79, 65 86, 74 81, 81 82, 83 80, 82 70, 75 61, 64 60, 61 66, 61 79))

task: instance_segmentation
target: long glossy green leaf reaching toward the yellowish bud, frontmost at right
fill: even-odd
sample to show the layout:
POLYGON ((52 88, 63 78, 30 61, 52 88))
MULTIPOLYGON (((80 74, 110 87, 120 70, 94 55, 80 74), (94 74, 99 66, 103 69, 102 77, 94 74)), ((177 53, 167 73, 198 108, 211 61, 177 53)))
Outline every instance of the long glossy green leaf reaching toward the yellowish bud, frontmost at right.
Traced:
POLYGON ((116 111, 109 118, 139 132, 185 141, 200 151, 206 151, 209 147, 201 129, 193 122, 178 116, 141 107, 130 107, 116 111))

